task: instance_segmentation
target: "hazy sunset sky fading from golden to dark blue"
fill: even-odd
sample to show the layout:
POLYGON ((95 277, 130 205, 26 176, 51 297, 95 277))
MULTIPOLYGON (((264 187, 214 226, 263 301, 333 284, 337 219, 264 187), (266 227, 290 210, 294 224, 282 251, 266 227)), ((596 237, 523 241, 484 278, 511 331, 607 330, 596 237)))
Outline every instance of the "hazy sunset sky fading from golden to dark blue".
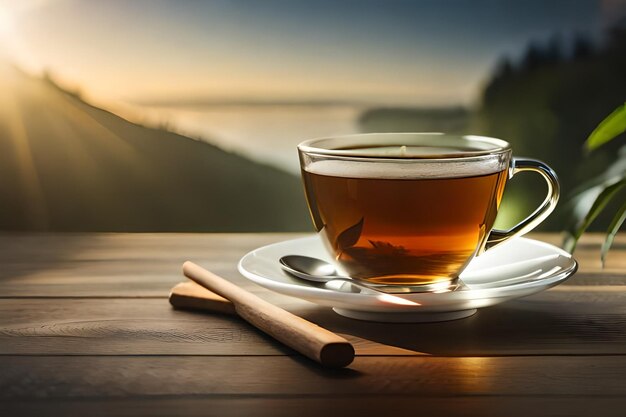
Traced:
POLYGON ((0 0, 5 55, 122 102, 469 104, 530 41, 599 39, 622 0, 0 0))

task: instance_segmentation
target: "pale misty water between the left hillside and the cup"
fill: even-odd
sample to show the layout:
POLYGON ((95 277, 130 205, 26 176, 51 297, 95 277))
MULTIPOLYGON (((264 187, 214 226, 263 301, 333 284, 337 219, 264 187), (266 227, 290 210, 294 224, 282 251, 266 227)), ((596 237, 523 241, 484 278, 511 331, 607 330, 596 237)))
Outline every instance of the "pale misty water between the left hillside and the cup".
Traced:
POLYGON ((352 104, 142 106, 143 117, 288 172, 300 172, 303 140, 357 133, 367 109, 352 104))

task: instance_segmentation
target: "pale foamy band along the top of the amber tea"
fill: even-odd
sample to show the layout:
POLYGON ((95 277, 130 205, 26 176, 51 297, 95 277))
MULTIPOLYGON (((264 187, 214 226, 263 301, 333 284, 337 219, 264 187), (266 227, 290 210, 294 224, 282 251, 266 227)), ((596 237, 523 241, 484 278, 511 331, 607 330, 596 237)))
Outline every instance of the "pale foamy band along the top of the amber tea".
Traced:
POLYGON ((507 167, 504 155, 460 158, 472 151, 469 148, 386 146, 345 151, 347 153, 344 156, 372 159, 312 161, 305 170, 312 174, 342 178, 420 179, 488 175, 507 167), (445 161, 440 157, 446 157, 445 161))

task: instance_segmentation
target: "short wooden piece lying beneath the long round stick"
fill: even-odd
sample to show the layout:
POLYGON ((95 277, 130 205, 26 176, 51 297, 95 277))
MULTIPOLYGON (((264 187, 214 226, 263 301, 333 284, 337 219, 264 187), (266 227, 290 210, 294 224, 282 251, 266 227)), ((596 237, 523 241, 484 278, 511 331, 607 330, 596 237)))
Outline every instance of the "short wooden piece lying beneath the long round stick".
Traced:
POLYGON ((176 284, 170 292, 170 304, 174 308, 237 314, 233 303, 193 281, 176 284))

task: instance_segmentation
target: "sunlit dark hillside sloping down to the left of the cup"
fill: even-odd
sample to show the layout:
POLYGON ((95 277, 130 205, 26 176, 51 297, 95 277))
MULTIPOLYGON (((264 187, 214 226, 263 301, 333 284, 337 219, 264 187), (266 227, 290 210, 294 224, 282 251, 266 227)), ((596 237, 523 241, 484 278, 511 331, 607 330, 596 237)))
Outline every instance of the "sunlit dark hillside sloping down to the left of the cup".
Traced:
POLYGON ((300 180, 0 66, 0 230, 310 230, 300 180))

